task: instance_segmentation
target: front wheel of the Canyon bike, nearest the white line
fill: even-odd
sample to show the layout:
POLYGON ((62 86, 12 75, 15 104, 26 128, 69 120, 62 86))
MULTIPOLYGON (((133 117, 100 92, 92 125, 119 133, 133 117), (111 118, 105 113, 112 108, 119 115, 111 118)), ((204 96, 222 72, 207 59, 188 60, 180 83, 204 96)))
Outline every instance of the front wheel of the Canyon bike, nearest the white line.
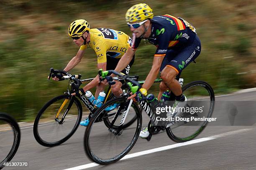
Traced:
POLYGON ((99 164, 108 164, 120 160, 136 143, 141 131, 141 122, 141 112, 135 102, 130 103, 130 100, 125 97, 106 102, 92 116, 85 131, 85 152, 92 161, 99 164), (102 121, 95 123, 95 120, 98 120, 99 117, 107 116, 105 108, 114 103, 117 103, 118 107, 111 111, 115 112, 115 118, 109 119, 110 126, 106 127, 102 121), (129 104, 131 104, 130 108, 128 107, 129 104), (127 113, 126 117, 125 113, 127 113), (125 124, 126 120, 131 120, 130 115, 136 115, 136 120, 129 128, 123 128, 120 122, 124 120, 123 123, 125 124))

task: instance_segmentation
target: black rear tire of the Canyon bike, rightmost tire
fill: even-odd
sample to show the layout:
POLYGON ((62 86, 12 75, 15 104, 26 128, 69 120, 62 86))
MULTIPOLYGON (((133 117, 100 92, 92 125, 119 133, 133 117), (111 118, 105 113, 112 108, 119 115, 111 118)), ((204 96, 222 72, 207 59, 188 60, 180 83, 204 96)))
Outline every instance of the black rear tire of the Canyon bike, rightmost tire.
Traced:
MULTIPOLYGON (((195 87, 195 86, 202 86, 208 91, 208 93, 210 95, 210 101, 211 102, 210 102, 210 109, 209 109, 207 117, 211 117, 213 109, 214 109, 214 101, 215 101, 214 91, 213 91, 212 87, 207 82, 199 80, 199 81, 189 82, 187 85, 185 85, 182 88, 182 92, 189 89, 189 87, 195 87)), ((205 127, 207 126, 207 123, 208 122, 205 121, 201 125, 201 127, 197 131, 195 131, 195 133, 193 133, 192 135, 190 135, 186 138, 180 138, 177 135, 174 135, 174 133, 172 132, 170 127, 166 128, 166 133, 169 136, 169 138, 171 138, 174 142, 177 142, 177 143, 187 142, 189 140, 194 139, 197 135, 199 135, 205 129, 205 127)))

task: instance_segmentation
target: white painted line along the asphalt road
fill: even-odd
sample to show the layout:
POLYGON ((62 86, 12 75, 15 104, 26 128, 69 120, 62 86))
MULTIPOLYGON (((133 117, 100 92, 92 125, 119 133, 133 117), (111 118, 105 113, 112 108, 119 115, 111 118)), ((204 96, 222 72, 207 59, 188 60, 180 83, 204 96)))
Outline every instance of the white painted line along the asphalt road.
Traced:
MULTIPOLYGON (((144 151, 141 151, 141 152, 125 155, 121 160, 135 158, 135 157, 138 157, 138 156, 147 155, 147 154, 151 154, 151 153, 156 153, 156 152, 160 152, 160 151, 163 151, 163 150, 178 148, 178 147, 182 147, 182 146, 186 146, 186 145, 192 145, 192 144, 195 144, 195 143, 206 142, 206 141, 209 141, 209 140, 214 140, 214 139, 221 138, 221 137, 228 136, 228 135, 234 135, 234 134, 241 133, 243 131, 248 131, 248 130, 252 130, 252 129, 249 129, 249 128, 239 129, 239 130, 234 130, 234 131, 230 131, 230 132, 226 132, 226 133, 221 133, 221 134, 218 134, 218 135, 213 135, 213 136, 210 136, 210 137, 207 137, 207 138, 200 138, 200 139, 190 140, 190 141, 187 141, 187 142, 184 142, 184 143, 176 143, 176 144, 173 144, 173 145, 167 145, 167 146, 163 146, 163 147, 160 147, 160 148, 144 150, 144 151)), ((96 167, 98 165, 100 165, 100 164, 89 163, 89 164, 85 164, 85 165, 81 165, 81 166, 77 166, 77 167, 69 168, 69 169, 65 169, 65 170, 84 170, 84 169, 87 169, 87 168, 96 167)))

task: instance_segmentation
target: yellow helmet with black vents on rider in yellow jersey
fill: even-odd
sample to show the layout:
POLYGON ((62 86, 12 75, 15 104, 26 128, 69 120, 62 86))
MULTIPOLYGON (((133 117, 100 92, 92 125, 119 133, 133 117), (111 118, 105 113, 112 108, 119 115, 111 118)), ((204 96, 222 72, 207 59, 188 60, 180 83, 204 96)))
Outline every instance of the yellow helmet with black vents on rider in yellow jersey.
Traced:
POLYGON ((86 20, 75 20, 69 25, 69 36, 80 37, 87 30, 90 31, 90 25, 86 20))

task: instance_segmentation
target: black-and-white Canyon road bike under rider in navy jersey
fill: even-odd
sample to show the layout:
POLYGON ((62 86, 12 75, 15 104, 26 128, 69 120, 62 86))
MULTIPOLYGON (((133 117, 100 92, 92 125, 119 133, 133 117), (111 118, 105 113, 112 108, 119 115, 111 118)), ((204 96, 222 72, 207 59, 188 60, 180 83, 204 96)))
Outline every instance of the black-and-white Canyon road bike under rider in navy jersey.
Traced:
MULTIPOLYGON (((115 70, 108 70, 105 72, 100 72, 102 79, 106 78, 109 83, 112 83, 113 80, 125 80, 126 91, 125 93, 118 98, 109 100, 104 105, 102 105, 94 114, 90 120, 89 125, 84 134, 84 150, 87 153, 88 157, 99 164, 108 164, 113 163, 117 160, 123 158, 135 145, 142 124, 142 115, 141 108, 145 110, 148 116, 151 118, 151 121, 148 124, 149 136, 155 132, 156 128, 161 128, 165 130, 169 138, 175 142, 186 142, 194 139, 199 135, 202 130, 206 127, 208 121, 202 122, 185 122, 185 121, 172 121, 166 124, 165 126, 156 127, 152 125, 154 117, 152 114, 151 103, 148 102, 146 98, 141 100, 140 103, 134 102, 132 99, 127 100, 130 96, 130 92, 135 93, 141 88, 141 84, 136 80, 131 79, 129 76, 123 77, 119 72, 115 70), (108 77, 108 74, 115 74, 119 77, 108 77), (115 116, 110 120, 110 126, 106 127, 100 123, 96 123, 96 120, 100 119, 100 116, 104 114, 104 109, 118 103, 118 107, 115 110, 112 110, 115 113, 115 116), (135 113, 136 120, 133 122, 129 128, 123 128, 125 124, 126 117, 129 114, 135 113)), ((176 79, 179 80, 177 75, 176 79)), ((200 114, 199 112, 193 114, 184 114, 183 117, 207 117, 212 116, 214 108, 214 91, 212 87, 204 81, 193 81, 189 82, 187 85, 182 87, 183 93, 187 96, 187 108, 192 108, 195 105, 198 105, 198 101, 204 102, 205 111, 200 114), (207 103, 205 103, 207 102, 207 103)), ((171 93, 170 100, 174 101, 174 94, 171 93)), ((174 102, 172 102, 174 103, 174 102)), ((151 137, 148 138, 150 140, 151 137)))

